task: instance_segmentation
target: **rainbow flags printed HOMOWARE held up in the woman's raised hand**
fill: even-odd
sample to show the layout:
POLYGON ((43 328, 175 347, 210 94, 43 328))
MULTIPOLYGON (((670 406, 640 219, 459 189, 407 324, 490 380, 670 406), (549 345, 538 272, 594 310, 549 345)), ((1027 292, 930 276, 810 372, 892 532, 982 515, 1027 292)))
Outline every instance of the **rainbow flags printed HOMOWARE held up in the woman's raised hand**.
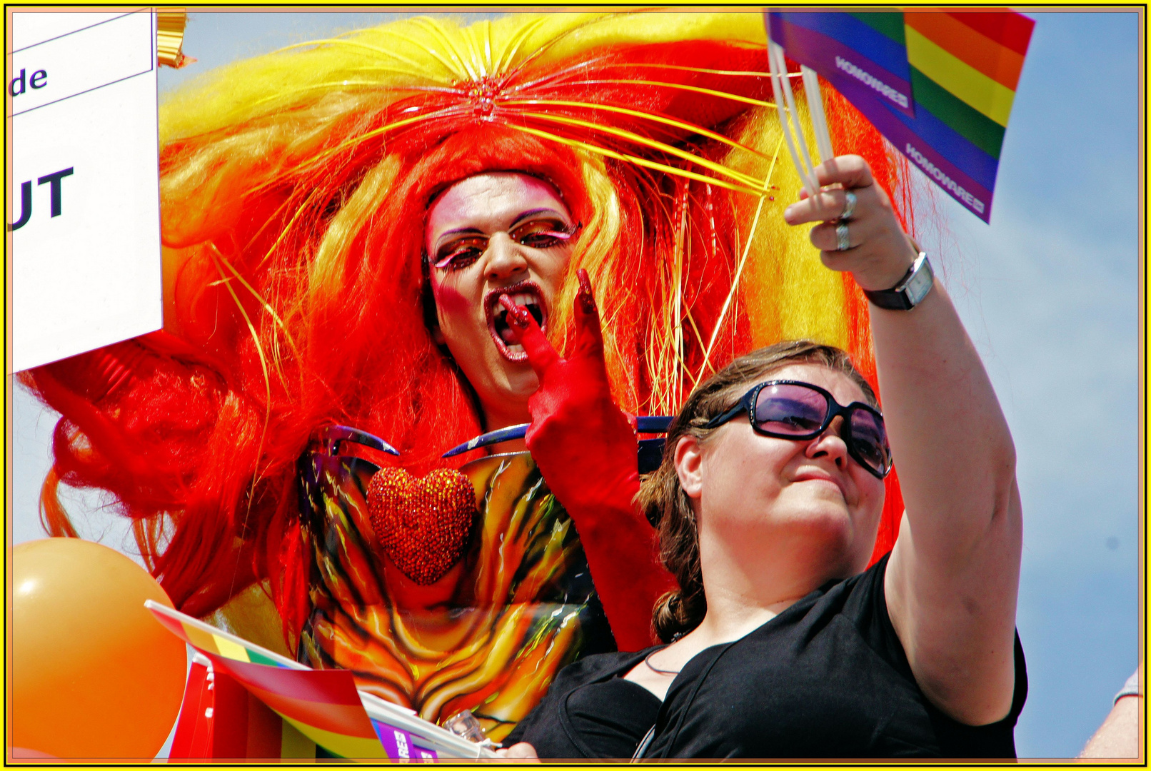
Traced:
MULTIPOLYGON (((771 12, 767 23, 771 39, 790 58, 824 76, 936 184, 990 222, 999 153, 1032 20, 1006 9, 915 9, 901 14, 771 12), (901 35, 892 16, 902 16, 901 35), (845 77, 843 68, 834 66, 829 69, 826 51, 816 48, 847 24, 841 17, 851 17, 856 30, 866 26, 881 32, 906 51, 913 97, 909 110, 893 106, 870 79, 854 72, 845 77)), ((876 49, 863 43, 874 39, 870 33, 846 43, 845 37, 834 38, 837 45, 861 41, 859 56, 876 49)))

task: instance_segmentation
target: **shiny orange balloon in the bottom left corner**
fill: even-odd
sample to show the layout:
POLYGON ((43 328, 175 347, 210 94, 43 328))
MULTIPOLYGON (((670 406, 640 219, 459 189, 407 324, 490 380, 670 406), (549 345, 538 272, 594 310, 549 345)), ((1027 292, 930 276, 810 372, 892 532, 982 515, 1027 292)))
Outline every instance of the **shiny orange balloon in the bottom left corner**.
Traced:
POLYGON ((184 643, 144 608, 171 606, 108 547, 44 539, 13 549, 10 743, 66 758, 151 759, 184 688, 184 643))

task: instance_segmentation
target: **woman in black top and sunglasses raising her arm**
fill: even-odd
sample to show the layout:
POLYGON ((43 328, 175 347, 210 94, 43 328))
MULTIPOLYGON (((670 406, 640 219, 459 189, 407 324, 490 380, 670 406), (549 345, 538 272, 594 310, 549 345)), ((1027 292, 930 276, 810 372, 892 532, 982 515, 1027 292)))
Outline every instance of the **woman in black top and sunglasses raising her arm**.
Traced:
POLYGON ((846 353, 810 342, 702 383, 639 496, 680 585, 654 614, 668 644, 561 672, 510 756, 1014 756, 1027 675, 1006 421, 866 162, 818 177, 840 186, 785 219, 823 221, 824 264, 871 299, 883 413, 846 353), (868 567, 893 458, 905 520, 868 567))

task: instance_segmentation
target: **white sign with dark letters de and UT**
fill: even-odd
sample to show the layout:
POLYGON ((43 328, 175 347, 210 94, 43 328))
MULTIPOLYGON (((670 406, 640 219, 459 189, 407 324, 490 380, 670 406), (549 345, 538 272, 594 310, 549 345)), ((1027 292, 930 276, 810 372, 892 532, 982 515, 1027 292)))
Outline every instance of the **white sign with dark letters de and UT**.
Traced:
POLYGON ((12 371, 159 329, 155 21, 13 12, 12 371))

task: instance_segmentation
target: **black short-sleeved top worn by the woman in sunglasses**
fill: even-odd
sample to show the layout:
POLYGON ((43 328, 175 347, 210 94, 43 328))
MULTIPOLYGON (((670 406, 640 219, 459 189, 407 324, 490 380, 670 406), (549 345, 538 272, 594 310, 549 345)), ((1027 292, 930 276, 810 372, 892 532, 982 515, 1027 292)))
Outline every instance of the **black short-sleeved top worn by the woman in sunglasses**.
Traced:
POLYGON ((1015 695, 999 723, 953 720, 920 690, 887 617, 884 557, 829 582, 748 635, 698 654, 663 704, 620 678, 655 648, 584 658, 504 741, 540 757, 1015 757, 1027 699, 1015 638, 1015 695))

